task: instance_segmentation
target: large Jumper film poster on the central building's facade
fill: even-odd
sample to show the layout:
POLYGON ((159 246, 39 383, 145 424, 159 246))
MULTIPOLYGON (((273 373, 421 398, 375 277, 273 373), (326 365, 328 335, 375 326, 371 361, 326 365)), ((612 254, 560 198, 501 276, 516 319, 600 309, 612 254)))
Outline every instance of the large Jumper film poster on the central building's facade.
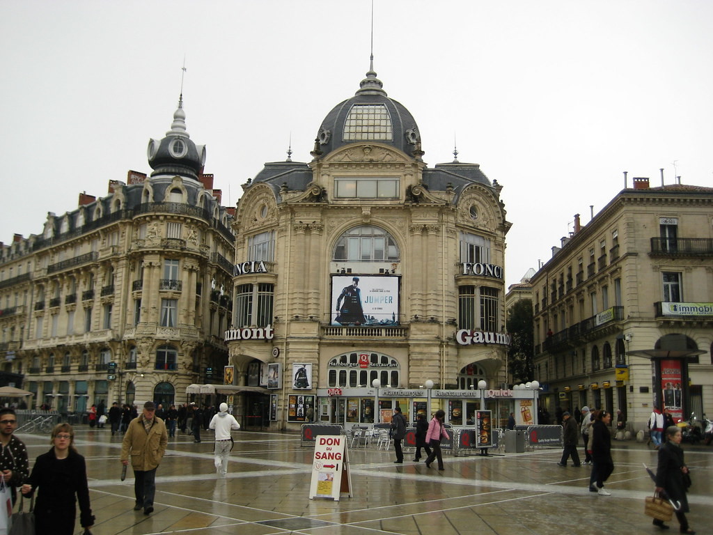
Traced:
POLYGON ((400 281, 396 275, 333 275, 332 325, 399 325, 400 281))

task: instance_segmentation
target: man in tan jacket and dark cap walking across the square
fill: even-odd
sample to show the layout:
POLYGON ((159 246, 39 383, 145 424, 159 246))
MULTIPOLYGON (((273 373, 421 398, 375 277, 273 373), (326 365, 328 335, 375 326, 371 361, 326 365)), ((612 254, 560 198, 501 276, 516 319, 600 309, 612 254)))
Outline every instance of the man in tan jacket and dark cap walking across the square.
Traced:
POLYGON ((121 444, 121 462, 134 471, 134 511, 143 507, 143 514, 153 513, 153 496, 156 493, 156 469, 163 459, 168 444, 168 434, 163 420, 155 415, 153 402, 143 404, 143 412, 129 424, 121 444))

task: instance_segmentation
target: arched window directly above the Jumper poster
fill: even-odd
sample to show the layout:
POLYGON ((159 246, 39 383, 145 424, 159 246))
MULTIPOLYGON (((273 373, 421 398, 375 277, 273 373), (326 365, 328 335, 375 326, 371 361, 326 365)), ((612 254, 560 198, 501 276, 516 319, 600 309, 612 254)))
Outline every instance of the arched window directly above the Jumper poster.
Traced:
POLYGON ((333 260, 348 262, 399 262, 396 240, 383 228, 362 225, 347 230, 337 240, 333 260))

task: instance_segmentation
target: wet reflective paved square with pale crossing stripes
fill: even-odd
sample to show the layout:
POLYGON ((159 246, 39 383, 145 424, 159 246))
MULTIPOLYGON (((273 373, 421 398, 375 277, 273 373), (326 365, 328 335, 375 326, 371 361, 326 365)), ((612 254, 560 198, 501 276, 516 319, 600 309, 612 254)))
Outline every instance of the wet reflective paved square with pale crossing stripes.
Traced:
MULTIPOLYGON (((19 434, 31 467, 48 437, 19 434)), ((110 429, 76 428, 76 447, 87 459, 94 535, 309 534, 514 535, 657 534, 643 514, 653 483, 656 452, 637 442, 614 442, 612 496, 588 491, 589 467, 559 467, 560 449, 496 457, 444 456, 445 470, 394 464, 394 452, 349 450, 352 498, 309 499, 312 453, 296 434, 237 432, 227 477, 215 474, 212 433, 195 444, 170 438, 156 477, 155 511, 133 511, 133 474, 120 481, 121 437, 110 429)), ((713 533, 713 445, 687 446, 691 468, 692 529, 713 533)), ((475 453, 475 452, 473 452, 475 453)), ((676 533, 676 519, 670 523, 676 533)), ((80 527, 77 525, 77 532, 80 527)), ((46 535, 46 534, 42 534, 46 535)))

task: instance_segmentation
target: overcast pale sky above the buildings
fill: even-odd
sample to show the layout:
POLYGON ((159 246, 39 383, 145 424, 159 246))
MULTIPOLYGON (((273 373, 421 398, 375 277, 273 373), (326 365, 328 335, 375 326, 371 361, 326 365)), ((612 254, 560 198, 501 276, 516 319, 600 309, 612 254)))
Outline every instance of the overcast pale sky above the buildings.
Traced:
MULTIPOLYGON (((180 93, 224 204, 309 161, 369 68, 370 0, 0 0, 0 240, 150 173, 180 93)), ((624 187, 713 186, 713 1, 375 0, 374 66, 429 166, 503 185, 506 280, 624 187), (675 171, 674 171, 675 162, 675 171)))

